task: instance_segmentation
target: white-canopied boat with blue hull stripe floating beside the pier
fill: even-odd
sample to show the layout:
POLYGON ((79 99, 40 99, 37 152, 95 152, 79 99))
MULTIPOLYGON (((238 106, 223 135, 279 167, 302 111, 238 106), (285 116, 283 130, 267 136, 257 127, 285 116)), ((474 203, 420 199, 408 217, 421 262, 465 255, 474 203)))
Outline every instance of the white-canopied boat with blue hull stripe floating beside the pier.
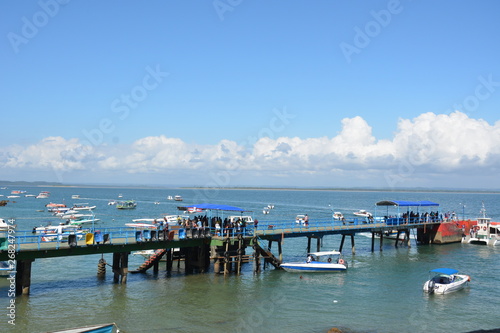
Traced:
POLYGON ((283 263, 280 265, 287 272, 336 272, 345 271, 347 262, 339 251, 311 252, 302 262, 283 263))

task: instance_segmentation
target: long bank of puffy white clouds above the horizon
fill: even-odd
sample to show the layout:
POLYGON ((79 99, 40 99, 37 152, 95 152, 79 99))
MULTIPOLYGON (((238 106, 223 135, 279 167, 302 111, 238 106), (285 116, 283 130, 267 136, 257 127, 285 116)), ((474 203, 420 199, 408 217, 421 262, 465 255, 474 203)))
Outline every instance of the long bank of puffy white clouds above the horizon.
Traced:
POLYGON ((74 138, 49 137, 30 146, 0 148, 0 167, 132 174, 182 170, 201 176, 221 171, 281 177, 335 173, 358 179, 385 177, 394 185, 394 179, 401 182, 426 173, 497 170, 498 142, 499 122, 491 125, 456 111, 400 119, 391 140, 377 140, 361 117, 343 119, 341 131, 332 137, 262 137, 252 146, 230 140, 191 144, 163 135, 129 146, 89 146, 74 138))

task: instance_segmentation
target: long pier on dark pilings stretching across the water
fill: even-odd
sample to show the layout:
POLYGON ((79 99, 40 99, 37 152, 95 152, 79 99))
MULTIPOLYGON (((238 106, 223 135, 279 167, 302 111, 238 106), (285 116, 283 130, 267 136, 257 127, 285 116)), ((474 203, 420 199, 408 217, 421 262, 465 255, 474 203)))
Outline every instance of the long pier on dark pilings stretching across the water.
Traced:
MULTIPOLYGON (((405 234, 403 243, 409 245, 410 232, 417 232, 417 240, 422 243, 432 241, 432 235, 428 233, 434 230, 433 226, 440 225, 442 222, 410 223, 402 225, 387 225, 386 223, 361 223, 347 224, 342 223, 311 223, 309 226, 292 225, 280 227, 279 225, 259 225, 259 228, 248 227, 238 233, 231 232, 226 235, 218 236, 215 230, 204 230, 203 232, 188 233, 187 237, 179 237, 180 233, 175 235, 171 232, 168 237, 150 237, 146 240, 133 237, 137 230, 132 230, 130 235, 118 237, 117 235, 108 235, 105 242, 95 243, 87 240, 79 240, 73 237, 67 242, 37 242, 26 241, 30 237, 36 236, 15 236, 15 241, 11 238, 0 238, 0 261, 16 261, 16 294, 29 294, 31 285, 31 265, 36 259, 51 257, 68 257, 96 254, 113 254, 112 271, 113 281, 115 283, 126 283, 128 268, 128 256, 133 251, 142 250, 162 250, 156 252, 157 256, 150 262, 145 263, 137 271, 146 271, 153 268, 158 271, 158 262, 161 257, 167 258, 167 271, 172 269, 173 261, 177 260, 178 265, 184 261, 185 272, 187 274, 194 272, 207 272, 210 269, 210 262, 213 260, 213 270, 217 274, 228 275, 232 272, 239 274, 242 264, 253 262, 254 272, 261 270, 261 265, 271 264, 279 268, 283 260, 282 243, 285 238, 302 237, 307 239, 307 250, 311 251, 311 246, 316 243, 316 250, 320 251, 324 236, 341 235, 339 251, 343 250, 346 237, 350 238, 351 251, 355 254, 354 237, 357 233, 370 232, 371 250, 375 249, 375 236, 380 237, 380 250, 382 250, 382 241, 384 233, 388 231, 397 231, 398 237, 395 246, 398 246, 400 233, 405 234), (267 241, 267 246, 264 243, 267 241), (272 253, 272 245, 276 243, 277 255, 272 253), (173 255, 173 249, 180 249, 176 257, 173 255), (161 253, 161 255, 160 255, 161 253)), ((93 237, 89 237, 93 238, 93 237)), ((101 259, 99 263, 98 275, 105 274, 106 263, 101 259)))

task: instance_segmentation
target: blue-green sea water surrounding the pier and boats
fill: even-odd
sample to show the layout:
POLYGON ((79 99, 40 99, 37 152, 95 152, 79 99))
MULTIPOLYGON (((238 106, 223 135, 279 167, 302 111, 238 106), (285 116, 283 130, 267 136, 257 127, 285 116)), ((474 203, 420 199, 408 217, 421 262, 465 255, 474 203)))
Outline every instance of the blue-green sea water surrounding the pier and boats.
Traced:
MULTIPOLYGON (((15 218, 18 230, 47 222, 49 202, 68 206, 96 205, 102 226, 122 226, 133 218, 176 214, 182 205, 203 202, 238 206, 252 211, 259 221, 293 221, 308 214, 310 221, 327 219, 332 211, 346 217, 359 209, 375 213, 381 200, 431 200, 440 212, 455 212, 474 219, 484 202, 487 215, 500 221, 499 193, 377 192, 307 190, 204 190, 78 187, 9 187, 30 194, 50 191, 48 199, 20 197, 0 207, 0 217, 15 218), (81 199, 71 199, 73 194, 81 199), (135 210, 118 210, 110 199, 134 199, 135 210), (154 204, 159 201, 160 204, 154 204), (273 204, 271 213, 262 208, 273 204), (43 211, 45 210, 45 211, 43 211)), ((4 199, 0 197, 0 200, 4 199)), ((104 279, 96 276, 98 256, 37 259, 32 265, 30 296, 15 298, 15 326, 8 323, 8 283, 0 279, 0 332, 46 332, 56 329, 115 322, 121 332, 468 332, 500 328, 500 246, 466 244, 422 245, 395 248, 384 241, 383 251, 370 252, 370 239, 357 235, 356 253, 344 244, 346 272, 295 274, 269 266, 259 274, 252 264, 242 275, 224 277, 213 272, 185 275, 183 267, 160 272, 129 274, 126 284, 114 284, 110 268, 104 279), (427 295, 422 285, 433 268, 450 267, 471 276, 468 288, 449 295, 427 295)), ((315 243, 315 242, 314 242, 315 243)), ((323 250, 338 249, 340 236, 325 236, 323 250)), ((307 238, 285 239, 285 261, 305 258, 307 238)), ((112 255, 105 259, 112 261, 112 255)), ((142 263, 130 256, 129 269, 142 263)))

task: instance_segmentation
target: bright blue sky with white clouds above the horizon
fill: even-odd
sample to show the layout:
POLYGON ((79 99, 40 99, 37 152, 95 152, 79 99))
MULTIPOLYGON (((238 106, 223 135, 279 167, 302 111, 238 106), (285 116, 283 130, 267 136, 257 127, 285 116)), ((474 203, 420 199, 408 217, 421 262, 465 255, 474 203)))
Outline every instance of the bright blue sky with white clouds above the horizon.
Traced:
POLYGON ((0 2, 0 180, 500 189, 500 3, 0 2))

